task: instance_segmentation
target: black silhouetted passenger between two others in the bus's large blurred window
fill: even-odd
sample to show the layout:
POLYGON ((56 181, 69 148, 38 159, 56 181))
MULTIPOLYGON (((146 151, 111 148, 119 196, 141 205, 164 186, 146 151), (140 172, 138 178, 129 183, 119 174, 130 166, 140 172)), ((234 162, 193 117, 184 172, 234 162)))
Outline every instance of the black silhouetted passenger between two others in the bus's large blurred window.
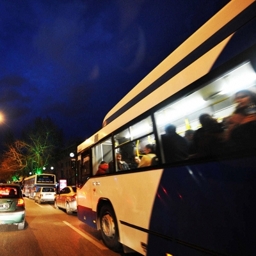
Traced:
POLYGON ((217 157, 225 152, 225 133, 223 127, 211 115, 199 116, 202 127, 194 135, 195 157, 217 157))

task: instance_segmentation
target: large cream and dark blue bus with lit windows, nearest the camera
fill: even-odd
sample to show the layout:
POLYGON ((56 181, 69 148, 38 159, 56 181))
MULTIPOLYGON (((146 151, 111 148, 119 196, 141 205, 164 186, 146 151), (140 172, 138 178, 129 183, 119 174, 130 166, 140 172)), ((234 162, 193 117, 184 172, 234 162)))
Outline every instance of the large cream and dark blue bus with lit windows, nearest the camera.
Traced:
POLYGON ((77 147, 79 220, 116 252, 254 255, 255 92, 256 2, 230 1, 77 147), (134 166, 148 145, 152 161, 134 166))

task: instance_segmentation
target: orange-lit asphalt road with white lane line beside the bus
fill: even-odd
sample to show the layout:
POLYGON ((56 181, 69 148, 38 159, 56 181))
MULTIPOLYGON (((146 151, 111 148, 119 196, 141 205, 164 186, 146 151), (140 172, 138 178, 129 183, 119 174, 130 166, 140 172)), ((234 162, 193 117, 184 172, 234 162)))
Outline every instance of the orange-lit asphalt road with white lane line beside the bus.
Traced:
POLYGON ((138 256, 138 253, 115 253, 102 242, 100 232, 54 209, 54 204, 37 204, 25 198, 26 223, 24 230, 16 225, 0 225, 0 256, 86 255, 138 256))

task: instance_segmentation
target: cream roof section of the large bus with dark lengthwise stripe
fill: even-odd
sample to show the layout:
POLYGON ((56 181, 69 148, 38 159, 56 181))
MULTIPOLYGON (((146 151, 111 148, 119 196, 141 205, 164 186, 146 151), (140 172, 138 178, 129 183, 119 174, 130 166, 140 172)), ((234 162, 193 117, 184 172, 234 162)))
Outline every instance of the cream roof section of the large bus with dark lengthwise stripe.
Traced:
MULTIPOLYGON (((188 84, 207 74, 232 37, 230 31, 228 31, 229 34, 223 33, 221 28, 237 17, 254 1, 230 1, 127 93, 105 116, 102 129, 81 143, 77 147, 77 152, 90 147, 108 134, 111 134, 118 127, 129 122, 129 120, 140 116, 148 109, 153 108, 188 86, 188 84), (218 35, 216 36, 216 34, 218 35), (212 42, 207 45, 209 38, 211 38, 212 42), (192 63, 194 70, 191 70, 190 67, 192 63), (182 74, 180 75, 181 71, 182 74)), ((250 19, 248 13, 244 14, 242 18, 250 19)), ((243 24, 244 20, 242 19, 242 21, 241 17, 239 19, 243 24)), ((239 25, 234 27, 238 29, 239 25)), ((233 33, 236 32, 236 29, 233 33)))

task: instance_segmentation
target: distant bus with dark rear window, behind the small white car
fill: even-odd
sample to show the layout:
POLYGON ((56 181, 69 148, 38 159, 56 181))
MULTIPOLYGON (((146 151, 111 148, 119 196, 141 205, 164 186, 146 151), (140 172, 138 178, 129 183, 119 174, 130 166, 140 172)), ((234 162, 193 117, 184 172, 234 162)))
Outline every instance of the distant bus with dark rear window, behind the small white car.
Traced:
POLYGON ((35 198, 35 192, 40 187, 56 188, 56 176, 51 173, 42 173, 24 179, 22 193, 29 198, 35 198))

